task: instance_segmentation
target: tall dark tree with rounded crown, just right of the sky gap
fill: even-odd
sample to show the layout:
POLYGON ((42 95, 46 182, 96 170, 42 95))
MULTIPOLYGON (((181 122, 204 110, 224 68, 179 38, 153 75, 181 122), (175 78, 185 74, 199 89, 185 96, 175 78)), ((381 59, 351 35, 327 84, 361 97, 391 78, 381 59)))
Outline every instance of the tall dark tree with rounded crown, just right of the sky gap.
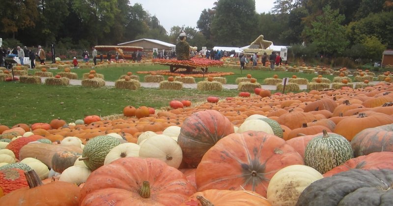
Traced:
POLYGON ((211 25, 217 45, 244 46, 257 35, 255 0, 219 0, 211 25))

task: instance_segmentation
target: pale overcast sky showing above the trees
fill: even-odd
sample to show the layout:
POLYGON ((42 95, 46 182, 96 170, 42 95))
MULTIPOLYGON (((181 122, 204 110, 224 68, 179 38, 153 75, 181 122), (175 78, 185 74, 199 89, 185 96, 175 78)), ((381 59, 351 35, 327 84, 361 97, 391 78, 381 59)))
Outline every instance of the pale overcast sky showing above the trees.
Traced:
MULTIPOLYGON (((142 4, 145 11, 156 16, 160 24, 169 33, 173 26, 193 27, 197 29, 197 21, 203 9, 213 7, 217 0, 130 0, 131 5, 142 4)), ((268 13, 275 0, 255 0, 257 13, 268 13)))

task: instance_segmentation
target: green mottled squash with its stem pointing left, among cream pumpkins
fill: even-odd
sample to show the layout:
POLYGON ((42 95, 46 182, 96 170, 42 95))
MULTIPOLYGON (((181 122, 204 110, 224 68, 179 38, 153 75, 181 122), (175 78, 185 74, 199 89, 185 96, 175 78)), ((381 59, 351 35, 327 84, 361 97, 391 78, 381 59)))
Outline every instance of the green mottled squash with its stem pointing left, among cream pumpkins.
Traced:
POLYGON ((109 151, 118 145, 120 145, 120 141, 112 136, 94 137, 86 143, 79 160, 83 160, 86 167, 94 171, 104 165, 105 157, 109 151))

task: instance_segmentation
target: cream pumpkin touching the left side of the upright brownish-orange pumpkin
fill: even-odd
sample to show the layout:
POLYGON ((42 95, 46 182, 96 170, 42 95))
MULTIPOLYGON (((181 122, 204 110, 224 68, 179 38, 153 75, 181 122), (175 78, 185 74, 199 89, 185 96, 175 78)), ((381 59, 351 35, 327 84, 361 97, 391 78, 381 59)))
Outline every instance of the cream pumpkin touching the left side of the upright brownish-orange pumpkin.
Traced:
POLYGON ((155 135, 140 146, 139 156, 157 158, 166 162, 169 166, 179 168, 183 152, 172 138, 166 135, 155 135))

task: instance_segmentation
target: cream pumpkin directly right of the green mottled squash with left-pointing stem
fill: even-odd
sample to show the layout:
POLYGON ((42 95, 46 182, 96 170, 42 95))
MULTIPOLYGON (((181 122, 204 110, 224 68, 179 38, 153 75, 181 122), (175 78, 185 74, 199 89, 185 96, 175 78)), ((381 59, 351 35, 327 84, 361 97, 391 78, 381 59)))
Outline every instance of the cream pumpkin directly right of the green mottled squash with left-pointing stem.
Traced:
POLYGON ((113 147, 105 157, 104 165, 123 157, 138 157, 140 146, 135 143, 123 143, 113 147))

